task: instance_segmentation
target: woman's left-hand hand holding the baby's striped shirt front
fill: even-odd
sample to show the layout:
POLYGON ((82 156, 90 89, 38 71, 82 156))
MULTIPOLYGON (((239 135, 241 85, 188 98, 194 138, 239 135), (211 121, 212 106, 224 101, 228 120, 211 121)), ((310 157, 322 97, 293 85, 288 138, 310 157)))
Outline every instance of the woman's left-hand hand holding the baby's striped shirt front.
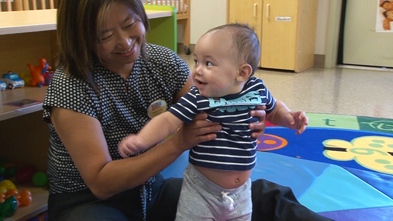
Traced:
MULTIPOLYGON (((259 116, 259 115, 258 115, 259 116)), ((220 123, 207 121, 207 113, 198 113, 193 121, 183 124, 171 139, 182 151, 189 150, 200 142, 217 137, 214 132, 222 129, 220 123)), ((258 127, 260 128, 260 127, 258 127)))

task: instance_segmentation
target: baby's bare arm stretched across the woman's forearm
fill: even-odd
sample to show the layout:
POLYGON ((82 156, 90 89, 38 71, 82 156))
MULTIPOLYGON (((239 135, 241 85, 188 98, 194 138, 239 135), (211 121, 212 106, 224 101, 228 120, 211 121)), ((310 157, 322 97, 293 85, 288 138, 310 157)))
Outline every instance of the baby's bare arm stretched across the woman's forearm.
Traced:
POLYGON ((138 134, 129 135, 119 143, 119 154, 123 158, 128 158, 127 153, 138 153, 147 149, 176 132, 182 124, 183 121, 169 111, 155 116, 138 134))

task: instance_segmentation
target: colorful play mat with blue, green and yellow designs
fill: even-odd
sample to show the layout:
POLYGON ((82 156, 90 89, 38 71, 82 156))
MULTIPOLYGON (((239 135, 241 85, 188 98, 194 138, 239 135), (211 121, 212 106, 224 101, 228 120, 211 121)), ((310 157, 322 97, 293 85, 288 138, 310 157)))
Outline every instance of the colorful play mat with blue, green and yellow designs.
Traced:
MULTIPOLYGON (((337 221, 393 220, 393 120, 307 113, 302 135, 267 123, 252 180, 290 187, 309 209, 337 221)), ((181 177, 188 152, 163 171, 181 177)))

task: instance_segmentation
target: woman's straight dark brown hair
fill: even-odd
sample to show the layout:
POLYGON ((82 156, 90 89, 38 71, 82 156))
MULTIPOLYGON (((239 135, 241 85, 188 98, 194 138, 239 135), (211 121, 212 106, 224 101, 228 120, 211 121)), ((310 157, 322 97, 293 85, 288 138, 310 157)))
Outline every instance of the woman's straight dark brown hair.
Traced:
MULTIPOLYGON (((96 91, 98 88, 91 71, 94 62, 99 59, 95 54, 96 43, 100 39, 99 28, 104 19, 110 19, 105 15, 114 2, 129 7, 146 31, 149 30, 149 21, 140 0, 61 0, 57 9, 57 66, 62 66, 67 75, 87 79, 96 91)), ((144 44, 141 55, 145 55, 144 44)))

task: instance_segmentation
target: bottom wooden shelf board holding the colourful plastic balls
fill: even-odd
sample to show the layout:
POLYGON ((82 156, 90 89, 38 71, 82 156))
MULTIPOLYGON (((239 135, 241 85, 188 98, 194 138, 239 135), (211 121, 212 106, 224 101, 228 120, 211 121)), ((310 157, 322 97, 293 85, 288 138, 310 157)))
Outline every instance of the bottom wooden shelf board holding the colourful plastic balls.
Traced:
POLYGON ((19 207, 12 217, 6 217, 4 221, 26 221, 34 216, 48 210, 49 191, 44 187, 20 186, 16 188, 19 193, 23 190, 29 190, 33 201, 28 206, 19 207))

